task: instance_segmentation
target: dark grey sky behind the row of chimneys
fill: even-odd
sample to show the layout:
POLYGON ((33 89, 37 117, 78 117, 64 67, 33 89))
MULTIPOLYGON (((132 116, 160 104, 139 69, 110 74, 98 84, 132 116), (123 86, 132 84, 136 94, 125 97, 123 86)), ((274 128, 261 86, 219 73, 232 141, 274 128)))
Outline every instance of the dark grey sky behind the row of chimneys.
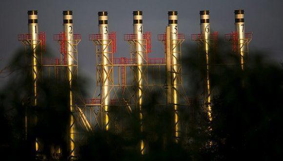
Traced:
POLYGON ((270 59, 282 60, 283 0, 2 0, 0 67, 21 47, 17 35, 27 33, 27 10, 38 10, 39 30, 46 32, 47 45, 53 55, 59 55, 53 34, 62 31, 62 11, 73 10, 74 33, 82 35, 78 47, 79 73, 94 80, 94 45, 88 41, 88 34, 98 32, 98 11, 108 11, 109 29, 117 32, 115 57, 129 56, 122 36, 132 33, 135 10, 143 11, 144 31, 152 32, 151 57, 162 57, 163 46, 157 41, 157 34, 165 30, 167 11, 179 12, 179 33, 187 35, 186 42, 190 42, 189 35, 200 32, 200 10, 210 10, 211 29, 219 31, 223 37, 234 30, 234 10, 239 8, 245 10, 246 32, 254 33, 250 50, 266 49, 270 51, 270 59))

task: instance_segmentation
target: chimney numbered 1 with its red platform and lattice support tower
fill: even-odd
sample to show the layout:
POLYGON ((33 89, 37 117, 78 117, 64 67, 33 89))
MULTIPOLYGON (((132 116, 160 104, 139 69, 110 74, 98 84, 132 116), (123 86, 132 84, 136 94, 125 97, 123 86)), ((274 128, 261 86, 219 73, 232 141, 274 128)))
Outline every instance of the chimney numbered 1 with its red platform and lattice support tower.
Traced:
MULTIPOLYGON (((31 77, 31 103, 35 110, 39 105, 39 82, 42 79, 42 52, 45 51, 45 32, 39 32, 38 11, 31 10, 28 14, 28 34, 18 35, 18 40, 25 47, 25 63, 28 67, 27 75, 31 77)), ((26 139, 28 134, 28 126, 37 124, 37 116, 25 116, 25 134, 26 139), (32 123, 29 124, 28 122, 32 123)), ((35 151, 38 153, 42 150, 39 138, 35 141, 35 151)), ((38 155, 37 155, 38 156, 38 155)), ((38 156, 39 157, 39 156, 38 156)))

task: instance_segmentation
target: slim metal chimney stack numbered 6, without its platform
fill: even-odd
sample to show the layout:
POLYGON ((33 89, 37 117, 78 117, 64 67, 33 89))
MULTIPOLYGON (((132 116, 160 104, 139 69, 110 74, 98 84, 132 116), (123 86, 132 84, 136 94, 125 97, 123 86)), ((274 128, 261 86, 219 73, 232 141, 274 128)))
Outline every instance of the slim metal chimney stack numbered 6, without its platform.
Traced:
POLYGON ((203 39, 203 51, 205 53, 205 65, 206 65, 206 77, 205 77, 205 93, 204 97, 206 101, 204 102, 205 111, 207 112, 208 119, 212 121, 211 117, 211 93, 210 93, 210 66, 209 66, 209 59, 210 59, 210 53, 209 53, 209 46, 210 46, 210 22, 209 22, 209 11, 204 10, 200 11, 200 17, 201 17, 201 36, 203 39))

